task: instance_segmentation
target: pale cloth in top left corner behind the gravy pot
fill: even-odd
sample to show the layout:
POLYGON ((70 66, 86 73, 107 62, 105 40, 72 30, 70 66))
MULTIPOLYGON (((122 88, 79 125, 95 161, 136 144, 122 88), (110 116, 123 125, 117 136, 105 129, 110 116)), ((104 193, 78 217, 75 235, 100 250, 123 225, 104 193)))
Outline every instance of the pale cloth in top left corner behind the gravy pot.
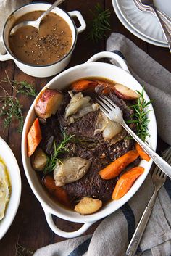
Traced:
POLYGON ((4 54, 5 49, 2 43, 2 32, 4 24, 7 20, 7 17, 14 12, 15 9, 21 7, 24 4, 28 4, 31 0, 0 0, 0 13, 1 13, 1 22, 0 22, 0 53, 4 54))

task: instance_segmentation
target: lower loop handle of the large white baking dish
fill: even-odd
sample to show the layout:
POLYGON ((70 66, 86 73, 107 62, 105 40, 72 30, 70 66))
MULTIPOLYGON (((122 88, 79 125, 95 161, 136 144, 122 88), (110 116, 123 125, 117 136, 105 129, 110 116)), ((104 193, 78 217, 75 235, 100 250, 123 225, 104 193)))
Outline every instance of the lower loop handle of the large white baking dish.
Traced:
POLYGON ((82 235, 94 223, 94 222, 86 222, 77 231, 67 232, 67 231, 62 231, 61 229, 57 228, 57 226, 54 224, 54 220, 52 219, 52 215, 50 212, 46 212, 46 210, 44 210, 44 213, 46 216, 47 223, 48 223, 49 227, 51 228, 51 230, 58 236, 62 236, 65 238, 73 238, 73 237, 82 235))

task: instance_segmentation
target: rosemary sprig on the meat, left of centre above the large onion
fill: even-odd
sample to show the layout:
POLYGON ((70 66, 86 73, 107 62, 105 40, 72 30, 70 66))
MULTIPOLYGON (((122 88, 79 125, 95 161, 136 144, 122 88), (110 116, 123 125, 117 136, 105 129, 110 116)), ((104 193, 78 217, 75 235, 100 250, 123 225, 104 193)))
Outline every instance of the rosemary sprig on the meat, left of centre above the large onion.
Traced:
POLYGON ((54 170, 54 168, 57 164, 57 161, 61 162, 61 160, 59 160, 59 154, 68 151, 66 145, 72 139, 72 137, 74 135, 67 136, 66 133, 63 133, 63 134, 64 134, 64 139, 63 139, 63 141, 61 141, 61 143, 59 145, 57 145, 54 141, 54 153, 51 154, 50 157, 48 157, 48 160, 46 162, 46 166, 43 170, 44 174, 51 173, 54 170))

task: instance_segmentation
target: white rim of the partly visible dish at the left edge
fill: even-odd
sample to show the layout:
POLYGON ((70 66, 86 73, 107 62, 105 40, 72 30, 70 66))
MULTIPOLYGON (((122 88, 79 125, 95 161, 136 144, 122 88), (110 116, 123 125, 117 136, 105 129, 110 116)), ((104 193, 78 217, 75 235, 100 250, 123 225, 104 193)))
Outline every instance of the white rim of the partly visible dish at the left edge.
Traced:
POLYGON ((17 160, 9 148, 7 143, 0 137, 0 157, 4 160, 9 173, 9 179, 12 185, 11 196, 7 205, 4 218, 0 220, 0 240, 6 234, 7 230, 12 224, 14 217, 17 213, 17 209, 20 204, 21 196, 21 177, 20 170, 17 164, 17 160))

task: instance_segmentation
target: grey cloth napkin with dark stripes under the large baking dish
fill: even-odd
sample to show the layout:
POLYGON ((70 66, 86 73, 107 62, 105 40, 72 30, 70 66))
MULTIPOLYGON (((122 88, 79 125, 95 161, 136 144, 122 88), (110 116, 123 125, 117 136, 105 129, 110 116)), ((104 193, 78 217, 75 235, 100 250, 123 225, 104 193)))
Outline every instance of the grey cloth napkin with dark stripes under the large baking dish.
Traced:
MULTIPOLYGON (((124 55, 130 72, 142 86, 145 86, 151 99, 155 99, 154 109, 159 115, 160 136, 171 144, 171 74, 128 38, 118 33, 112 33, 109 37, 107 51, 114 51, 122 57, 124 55), (144 81, 145 78, 148 83, 144 81)), ((149 175, 134 197, 120 210, 102 220, 93 235, 51 244, 38 249, 33 256, 124 256, 153 191, 154 186, 149 175)), ((171 255, 171 181, 169 178, 159 191, 137 255, 171 255)))

